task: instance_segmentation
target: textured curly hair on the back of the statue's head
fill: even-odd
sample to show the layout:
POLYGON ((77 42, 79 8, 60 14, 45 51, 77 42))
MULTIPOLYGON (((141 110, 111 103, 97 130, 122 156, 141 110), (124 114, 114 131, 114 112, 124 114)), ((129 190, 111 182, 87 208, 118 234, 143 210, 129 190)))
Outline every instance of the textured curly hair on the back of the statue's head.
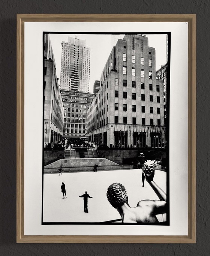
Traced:
POLYGON ((111 184, 107 189, 107 199, 114 208, 128 202, 125 187, 117 182, 111 184))

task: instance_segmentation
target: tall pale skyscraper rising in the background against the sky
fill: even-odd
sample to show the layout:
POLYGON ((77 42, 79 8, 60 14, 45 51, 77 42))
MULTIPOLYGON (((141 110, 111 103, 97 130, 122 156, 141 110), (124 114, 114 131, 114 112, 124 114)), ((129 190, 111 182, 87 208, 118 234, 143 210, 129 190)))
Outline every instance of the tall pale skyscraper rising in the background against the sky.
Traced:
POLYGON ((61 89, 89 92, 90 48, 86 41, 68 37, 62 42, 61 89))

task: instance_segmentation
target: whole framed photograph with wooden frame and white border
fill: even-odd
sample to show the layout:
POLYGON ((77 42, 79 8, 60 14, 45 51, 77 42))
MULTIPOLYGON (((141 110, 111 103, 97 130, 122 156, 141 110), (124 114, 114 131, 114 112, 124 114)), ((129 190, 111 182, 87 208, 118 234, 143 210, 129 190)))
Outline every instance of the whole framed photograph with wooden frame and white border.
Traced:
POLYGON ((195 243, 195 24, 17 15, 17 242, 195 243))

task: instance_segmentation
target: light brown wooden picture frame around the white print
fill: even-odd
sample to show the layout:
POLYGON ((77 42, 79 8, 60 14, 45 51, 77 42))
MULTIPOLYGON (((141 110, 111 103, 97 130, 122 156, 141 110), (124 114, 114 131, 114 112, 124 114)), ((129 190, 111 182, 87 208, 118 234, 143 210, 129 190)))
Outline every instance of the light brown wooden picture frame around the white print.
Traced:
MULTIPOLYGON (((33 149, 32 149, 33 150, 33 149)), ((195 243, 196 233, 196 15, 195 14, 17 14, 17 242, 18 243, 195 243), (187 23, 188 24, 188 235, 25 235, 24 83, 25 24, 187 23)))

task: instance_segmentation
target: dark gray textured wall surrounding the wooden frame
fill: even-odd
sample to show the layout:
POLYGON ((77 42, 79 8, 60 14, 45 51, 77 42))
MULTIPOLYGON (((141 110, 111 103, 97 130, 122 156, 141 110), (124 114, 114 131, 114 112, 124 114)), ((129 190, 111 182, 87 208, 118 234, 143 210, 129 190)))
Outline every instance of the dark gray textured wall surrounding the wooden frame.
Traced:
MULTIPOLYGON (((210 1, 1 0, 0 2, 0 254, 209 255, 210 1), (16 14, 197 14, 197 243, 16 244, 16 14), (208 203, 207 203, 208 201, 208 203)), ((181 60, 181 56, 180 56, 181 60)))

